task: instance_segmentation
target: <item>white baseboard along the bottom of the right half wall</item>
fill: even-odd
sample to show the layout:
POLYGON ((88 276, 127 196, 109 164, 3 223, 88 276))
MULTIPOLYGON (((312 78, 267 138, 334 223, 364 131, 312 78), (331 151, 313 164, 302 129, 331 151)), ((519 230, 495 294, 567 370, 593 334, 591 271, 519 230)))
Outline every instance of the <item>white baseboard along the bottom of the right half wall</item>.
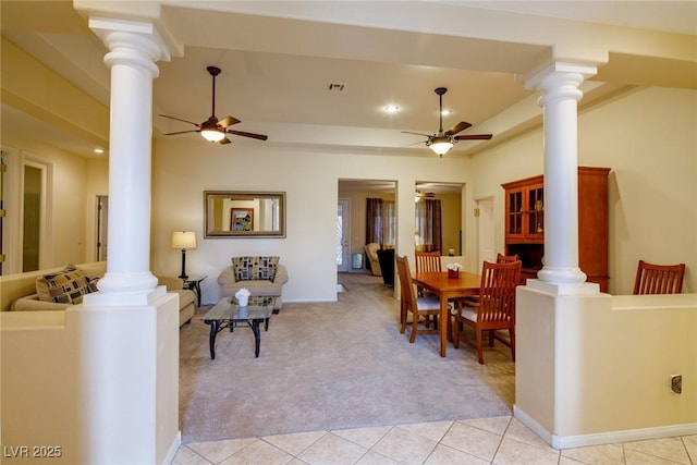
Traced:
POLYGON ((587 445, 613 444, 617 442, 643 441, 646 439, 674 438, 676 436, 697 435, 697 423, 684 425, 669 425, 656 428, 627 429, 623 431, 594 432, 588 435, 558 436, 548 431, 523 412, 517 405, 513 406, 513 416, 523 425, 530 428, 553 449, 573 449, 587 445))

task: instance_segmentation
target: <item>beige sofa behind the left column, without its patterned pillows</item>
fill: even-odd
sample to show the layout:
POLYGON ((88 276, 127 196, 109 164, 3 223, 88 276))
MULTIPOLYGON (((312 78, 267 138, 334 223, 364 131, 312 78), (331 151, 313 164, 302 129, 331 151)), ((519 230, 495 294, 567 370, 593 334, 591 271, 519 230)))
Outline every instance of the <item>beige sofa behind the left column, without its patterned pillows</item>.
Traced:
MULTIPOLYGON (((81 264, 76 265, 76 268, 88 277, 101 277, 107 272, 107 262, 81 264)), ((40 301, 36 290, 37 278, 62 269, 51 268, 0 277, 0 311, 64 310, 70 307, 71 304, 40 301)), ((191 321, 196 310, 194 292, 183 289, 183 282, 179 278, 158 277, 158 284, 164 285, 167 292, 179 294, 180 327, 191 321)))

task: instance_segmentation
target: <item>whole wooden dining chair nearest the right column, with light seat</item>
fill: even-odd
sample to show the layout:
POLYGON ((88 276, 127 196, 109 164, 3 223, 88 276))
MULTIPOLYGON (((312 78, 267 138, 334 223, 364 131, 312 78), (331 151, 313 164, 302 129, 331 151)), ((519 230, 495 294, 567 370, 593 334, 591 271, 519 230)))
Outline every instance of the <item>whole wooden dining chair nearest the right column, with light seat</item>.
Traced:
POLYGON ((477 348, 479 363, 484 365, 484 332, 489 333, 489 345, 499 339, 511 347, 511 357, 515 360, 515 287, 521 279, 521 261, 510 264, 484 262, 481 285, 479 287, 479 305, 457 306, 452 325, 453 346, 460 347, 460 341, 477 348), (463 338, 462 323, 475 329, 476 343, 463 338), (496 338, 496 331, 508 330, 510 341, 496 338))

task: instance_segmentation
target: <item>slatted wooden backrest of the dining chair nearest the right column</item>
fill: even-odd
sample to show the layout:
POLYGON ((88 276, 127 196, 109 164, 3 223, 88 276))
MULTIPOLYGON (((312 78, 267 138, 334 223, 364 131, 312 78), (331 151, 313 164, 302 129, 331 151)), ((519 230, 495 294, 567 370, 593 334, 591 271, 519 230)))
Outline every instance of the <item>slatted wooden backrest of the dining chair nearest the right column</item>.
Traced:
POLYGON ((521 261, 484 262, 479 287, 477 322, 486 327, 498 321, 515 321, 515 287, 521 280, 521 261))

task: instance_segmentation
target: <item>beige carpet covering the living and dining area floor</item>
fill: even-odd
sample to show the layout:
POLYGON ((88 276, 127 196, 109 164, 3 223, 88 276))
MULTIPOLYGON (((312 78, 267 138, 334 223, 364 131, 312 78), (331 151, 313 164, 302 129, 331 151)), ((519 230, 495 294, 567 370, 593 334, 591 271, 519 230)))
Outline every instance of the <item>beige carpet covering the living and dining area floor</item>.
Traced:
POLYGON ((508 347, 487 347, 484 366, 465 345, 441 358, 437 335, 400 334, 381 278, 339 281, 338 303, 285 303, 259 358, 248 328, 219 333, 215 360, 203 311, 181 329, 183 442, 511 414, 508 347))

